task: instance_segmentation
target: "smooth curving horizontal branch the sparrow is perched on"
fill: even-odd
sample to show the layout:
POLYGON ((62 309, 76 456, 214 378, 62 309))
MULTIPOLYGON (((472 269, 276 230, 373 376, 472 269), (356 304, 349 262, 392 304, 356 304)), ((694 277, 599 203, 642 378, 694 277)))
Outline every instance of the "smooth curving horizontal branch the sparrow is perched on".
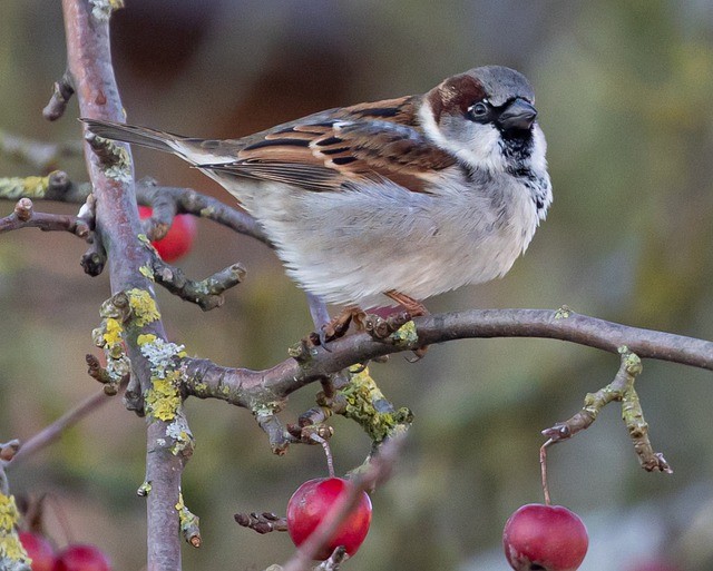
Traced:
POLYGON ((266 371, 222 367, 208 361, 186 358, 184 366, 188 382, 185 390, 201 398, 219 398, 236 406, 254 408, 284 398, 302 386, 355 363, 413 351, 424 344, 492 337, 554 338, 615 354, 619 346, 626 345, 642 358, 713 371, 713 342, 629 327, 572 311, 471 309, 417 317, 413 324, 414 335, 410 337, 390 336, 377 341, 368 333, 356 333, 330 343, 330 351, 310 347, 296 358, 266 371))

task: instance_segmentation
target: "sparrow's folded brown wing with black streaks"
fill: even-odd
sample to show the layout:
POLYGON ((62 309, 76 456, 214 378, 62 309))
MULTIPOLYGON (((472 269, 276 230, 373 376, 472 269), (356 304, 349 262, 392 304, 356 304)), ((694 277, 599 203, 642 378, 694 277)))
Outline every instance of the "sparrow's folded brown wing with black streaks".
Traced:
POLYGON ((285 124, 252 137, 237 160, 199 167, 316 191, 363 179, 424 191, 432 171, 456 159, 426 139, 413 99, 361 104, 285 124))

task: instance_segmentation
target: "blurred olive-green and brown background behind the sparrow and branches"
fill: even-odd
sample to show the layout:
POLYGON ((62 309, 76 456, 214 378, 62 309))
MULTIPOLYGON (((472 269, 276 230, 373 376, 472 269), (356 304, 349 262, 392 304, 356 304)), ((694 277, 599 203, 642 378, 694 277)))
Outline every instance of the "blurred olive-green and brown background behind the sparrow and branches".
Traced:
MULTIPOLYGON (((575 311, 713 337, 713 4, 707 0, 127 0, 113 50, 130 122, 235 137, 333 106, 421 92, 486 63, 522 71, 537 92, 555 203, 504 279, 429 302, 575 311)), ((77 107, 41 118, 65 70, 59 2, 0 6, 0 129, 78 139, 77 107)), ((137 175, 229 197, 178 159, 137 150, 137 175)), ((85 180, 81 160, 60 165, 85 180)), ((36 174, 0 156, 0 176, 36 174)), ((74 211, 65 205, 39 209, 74 211)), ((12 209, 0 204, 0 214, 12 209)), ((79 267, 80 240, 22 230, 0 238, 0 440, 28 439, 98 387, 84 355, 109 296, 79 267)), ((247 280, 203 314, 159 292, 172 339, 225 365, 266 367, 310 331, 303 294, 263 246, 201 221, 184 269, 203 277, 236 260, 247 280)), ((424 360, 394 356, 373 375, 416 424, 394 478, 373 495, 374 523, 345 569, 505 571, 507 516, 541 501, 539 431, 608 383, 617 357, 540 339, 462 341, 424 360)), ((583 570, 644 571, 667 554, 681 571, 713 569, 713 378, 645 362, 638 390, 654 446, 675 470, 638 467, 615 406, 549 454, 553 499, 592 531, 583 570)), ((319 387, 291 398, 292 421, 319 387)), ((290 557, 286 534, 238 528, 236 511, 284 512, 319 447, 270 454, 248 413, 189 401, 197 439, 184 481, 204 544, 184 569, 260 570, 290 557)), ((336 469, 368 453, 334 421, 336 469)), ((117 398, 51 449, 9 472, 18 494, 53 493, 75 540, 101 545, 118 570, 145 564, 144 421, 117 398)), ((55 541, 67 539, 48 513, 55 541)))

